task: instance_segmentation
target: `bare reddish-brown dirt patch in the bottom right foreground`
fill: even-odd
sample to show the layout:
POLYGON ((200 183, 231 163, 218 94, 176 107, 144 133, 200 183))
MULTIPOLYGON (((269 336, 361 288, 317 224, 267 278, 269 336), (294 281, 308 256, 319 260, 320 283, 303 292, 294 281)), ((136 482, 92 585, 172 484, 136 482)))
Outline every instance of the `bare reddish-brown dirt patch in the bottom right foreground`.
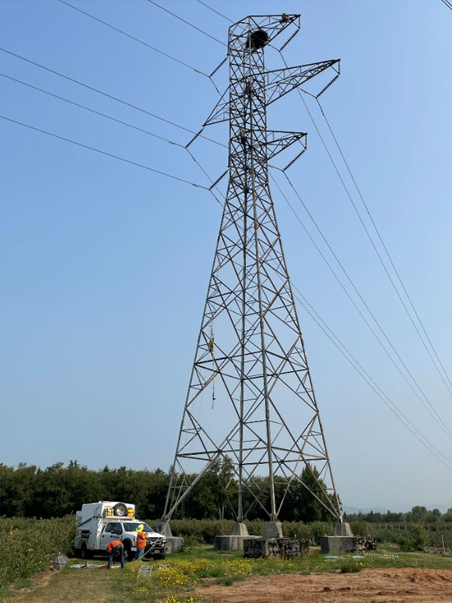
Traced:
POLYGON ((214 603, 452 603, 451 569, 363 569, 358 574, 253 576, 198 587, 214 603))

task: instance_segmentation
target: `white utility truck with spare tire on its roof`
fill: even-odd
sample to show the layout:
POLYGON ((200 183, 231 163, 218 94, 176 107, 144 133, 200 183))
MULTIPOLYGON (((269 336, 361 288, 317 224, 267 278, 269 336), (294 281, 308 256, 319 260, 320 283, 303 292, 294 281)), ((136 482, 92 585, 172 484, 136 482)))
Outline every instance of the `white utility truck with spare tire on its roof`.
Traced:
POLYGON ((77 536, 75 552, 86 559, 93 555, 108 554, 105 547, 113 540, 120 540, 124 545, 124 556, 131 560, 136 552, 136 528, 140 524, 147 532, 145 554, 154 559, 164 559, 166 538, 154 532, 145 521, 135 519, 135 505, 126 502, 91 502, 81 506, 77 511, 77 536))

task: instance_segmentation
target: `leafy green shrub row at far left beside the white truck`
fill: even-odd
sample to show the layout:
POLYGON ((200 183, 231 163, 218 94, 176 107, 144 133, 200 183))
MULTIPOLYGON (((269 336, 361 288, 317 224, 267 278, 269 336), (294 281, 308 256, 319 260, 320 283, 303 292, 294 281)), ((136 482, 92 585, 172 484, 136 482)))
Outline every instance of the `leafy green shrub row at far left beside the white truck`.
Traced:
POLYGON ((1 586, 49 569, 58 554, 68 554, 75 537, 75 515, 59 519, 0 519, 1 586))

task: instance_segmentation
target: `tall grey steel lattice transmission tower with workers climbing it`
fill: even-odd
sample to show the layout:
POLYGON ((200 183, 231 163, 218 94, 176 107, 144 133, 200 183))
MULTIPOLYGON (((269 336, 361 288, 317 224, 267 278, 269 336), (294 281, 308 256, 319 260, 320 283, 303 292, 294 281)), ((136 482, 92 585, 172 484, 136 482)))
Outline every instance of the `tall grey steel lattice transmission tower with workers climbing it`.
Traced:
POLYGON ((264 48, 284 42, 279 36, 284 47, 298 31, 299 15, 286 14, 229 27, 229 88, 204 124, 229 119, 229 184, 165 519, 205 471, 228 459, 238 482, 229 496, 236 521, 249 510, 245 493, 276 520, 303 467, 311 477, 305 487, 342 521, 268 184, 268 161, 297 143, 287 168, 305 150, 306 134, 267 130, 266 108, 332 72, 321 94, 339 74, 339 60, 266 71, 264 48), (265 492, 256 479, 263 474, 265 492))

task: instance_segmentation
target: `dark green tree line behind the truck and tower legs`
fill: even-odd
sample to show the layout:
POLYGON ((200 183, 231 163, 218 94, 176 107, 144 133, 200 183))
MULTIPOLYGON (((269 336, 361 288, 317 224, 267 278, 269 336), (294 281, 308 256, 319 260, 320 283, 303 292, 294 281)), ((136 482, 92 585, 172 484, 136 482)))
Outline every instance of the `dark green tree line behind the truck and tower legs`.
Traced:
MULTIPOLYGON (((316 469, 312 467, 316 473, 316 469)), ((136 505, 136 516, 158 519, 164 512, 171 472, 162 469, 135 470, 105 466, 99 471, 71 462, 54 463, 46 469, 19 463, 9 467, 0 463, 0 508, 6 517, 64 517, 81 509, 86 502, 117 500, 136 505)), ((193 477, 193 476, 191 476, 193 477)), ((301 479, 314 487, 311 471, 303 469, 301 479)), ((190 481, 190 480, 189 480, 190 481)), ((268 477, 255 478, 264 506, 268 507, 270 488, 268 477)), ((234 519, 234 504, 238 483, 226 461, 215 463, 199 480, 192 493, 177 508, 174 519, 234 519), (223 489, 220 484, 227 484, 223 489)), ((284 484, 275 482, 277 500, 281 500, 284 484)), ((253 497, 244 491, 244 508, 251 507, 247 519, 265 519, 265 511, 253 504, 253 497)), ((321 495, 319 495, 321 497, 321 495)), ((279 513, 281 521, 331 521, 325 507, 310 494, 303 484, 293 480, 279 513)))

